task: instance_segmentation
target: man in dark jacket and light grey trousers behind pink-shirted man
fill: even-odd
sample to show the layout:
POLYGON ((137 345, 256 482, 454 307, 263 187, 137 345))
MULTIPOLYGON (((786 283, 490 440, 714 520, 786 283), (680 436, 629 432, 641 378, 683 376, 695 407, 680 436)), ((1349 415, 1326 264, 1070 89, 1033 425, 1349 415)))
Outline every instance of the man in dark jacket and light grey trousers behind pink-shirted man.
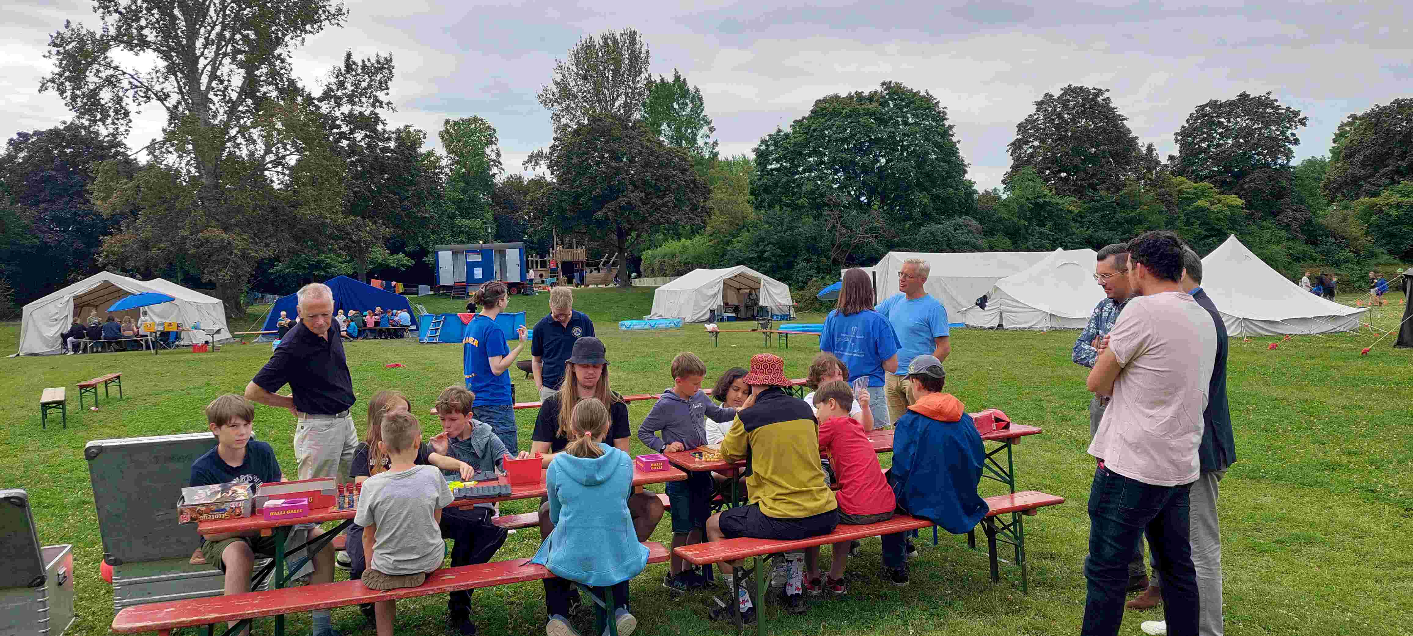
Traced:
MULTIPOLYGON (((1193 565, 1197 568, 1197 595, 1200 613, 1197 629, 1200 636, 1222 636, 1222 536, 1217 520, 1218 485, 1226 468, 1236 461, 1236 441, 1232 436, 1231 410, 1226 405, 1226 326, 1217 312, 1217 305, 1201 288, 1202 259, 1191 248, 1183 252, 1183 289, 1212 316, 1217 326, 1217 364, 1212 367, 1212 381, 1207 393, 1207 409, 1202 410, 1202 444, 1197 448, 1202 472, 1188 491, 1188 540, 1193 543, 1193 565)), ((1161 599, 1161 578, 1153 567, 1153 582, 1139 598, 1129 601, 1130 609, 1146 609, 1161 599)), ((1163 620, 1146 620, 1140 625, 1145 633, 1157 636, 1167 633, 1163 620)))

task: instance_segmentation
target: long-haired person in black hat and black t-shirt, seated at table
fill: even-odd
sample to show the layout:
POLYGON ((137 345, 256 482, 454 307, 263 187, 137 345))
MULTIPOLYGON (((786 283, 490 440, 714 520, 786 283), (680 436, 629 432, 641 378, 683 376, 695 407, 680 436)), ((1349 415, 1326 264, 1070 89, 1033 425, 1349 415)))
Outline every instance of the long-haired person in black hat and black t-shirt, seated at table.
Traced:
MULTIPOLYGON (((564 382, 558 392, 540 403, 540 415, 534 422, 530 453, 538 453, 545 467, 557 453, 569 446, 569 415, 585 398, 598 398, 609 408, 609 434, 605 441, 629 453, 633 429, 627 420, 627 402, 609 388, 609 360, 603 341, 585 336, 574 341, 569 360, 564 362, 564 382)), ((533 457, 530 453, 521 453, 520 457, 533 457)), ((629 495, 627 509, 633 515, 637 540, 646 542, 663 519, 661 499, 651 492, 634 492, 629 495)), ((548 503, 540 506, 540 536, 550 536, 554 530, 548 503)))

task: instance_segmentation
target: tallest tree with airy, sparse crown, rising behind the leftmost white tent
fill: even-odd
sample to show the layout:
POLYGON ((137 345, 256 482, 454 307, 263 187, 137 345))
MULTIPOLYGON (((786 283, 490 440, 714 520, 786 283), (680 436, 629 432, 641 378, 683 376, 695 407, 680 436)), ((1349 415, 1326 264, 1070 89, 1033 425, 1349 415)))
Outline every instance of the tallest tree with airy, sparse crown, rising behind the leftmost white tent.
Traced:
MULTIPOLYGON (((140 209, 131 227, 124 224, 105 241, 105 258, 134 267, 185 264, 184 271, 199 272, 227 307, 239 310, 250 276, 239 264, 297 243, 271 228, 297 223, 295 214, 305 212, 325 217, 338 212, 342 192, 333 210, 321 210, 328 203, 312 196, 339 172, 322 111, 382 103, 391 58, 346 56, 314 97, 300 86, 290 59, 307 38, 343 23, 348 11, 332 0, 96 0, 93 10, 97 30, 65 23, 51 35, 47 56, 55 71, 40 89, 58 93, 76 121, 119 135, 130 128, 134 111, 155 107, 167 114, 162 135, 144 149, 157 162, 147 176, 168 188, 120 197, 157 204, 158 213, 147 219, 147 209, 140 209), (276 226, 264 223, 268 179, 305 192, 281 202, 283 223, 276 226), (154 202, 157 192, 172 199, 154 202), (171 224, 165 212, 178 203, 184 216, 171 224), (235 250, 229 262, 209 257, 216 248, 235 250)), ((109 186, 117 193, 137 185, 109 186)))

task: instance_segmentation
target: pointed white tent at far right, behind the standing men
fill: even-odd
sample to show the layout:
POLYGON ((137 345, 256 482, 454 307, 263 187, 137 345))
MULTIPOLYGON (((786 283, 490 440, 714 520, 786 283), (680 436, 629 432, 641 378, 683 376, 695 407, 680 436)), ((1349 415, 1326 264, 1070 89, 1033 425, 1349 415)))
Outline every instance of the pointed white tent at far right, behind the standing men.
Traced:
POLYGON ((1358 331, 1366 312, 1300 289, 1235 236, 1202 258, 1202 289, 1231 336, 1358 331))

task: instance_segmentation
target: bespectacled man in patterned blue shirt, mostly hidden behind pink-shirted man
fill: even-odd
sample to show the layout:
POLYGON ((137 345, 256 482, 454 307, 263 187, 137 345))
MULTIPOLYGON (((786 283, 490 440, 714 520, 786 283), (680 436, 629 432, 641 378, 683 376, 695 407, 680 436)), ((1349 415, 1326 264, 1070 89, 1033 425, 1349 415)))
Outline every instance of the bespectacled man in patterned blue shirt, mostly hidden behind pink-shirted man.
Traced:
MULTIPOLYGON (((1123 312, 1123 305, 1128 303, 1130 295, 1128 267, 1129 245, 1126 243, 1115 243, 1099 250, 1098 262, 1094 265, 1094 279, 1104 288, 1106 298, 1094 306, 1089 324, 1085 324, 1084 331, 1080 331, 1080 337, 1074 341, 1074 353, 1071 354, 1074 364, 1094 368, 1094 361, 1109 347, 1109 330, 1119 320, 1119 312, 1123 312)), ((1108 396, 1095 395, 1089 400, 1091 439, 1099 430, 1099 420, 1104 419, 1104 410, 1108 406, 1108 396)), ((1147 589, 1147 565, 1143 563, 1143 544, 1140 542, 1133 561, 1129 563, 1128 589, 1135 592, 1147 589)))

